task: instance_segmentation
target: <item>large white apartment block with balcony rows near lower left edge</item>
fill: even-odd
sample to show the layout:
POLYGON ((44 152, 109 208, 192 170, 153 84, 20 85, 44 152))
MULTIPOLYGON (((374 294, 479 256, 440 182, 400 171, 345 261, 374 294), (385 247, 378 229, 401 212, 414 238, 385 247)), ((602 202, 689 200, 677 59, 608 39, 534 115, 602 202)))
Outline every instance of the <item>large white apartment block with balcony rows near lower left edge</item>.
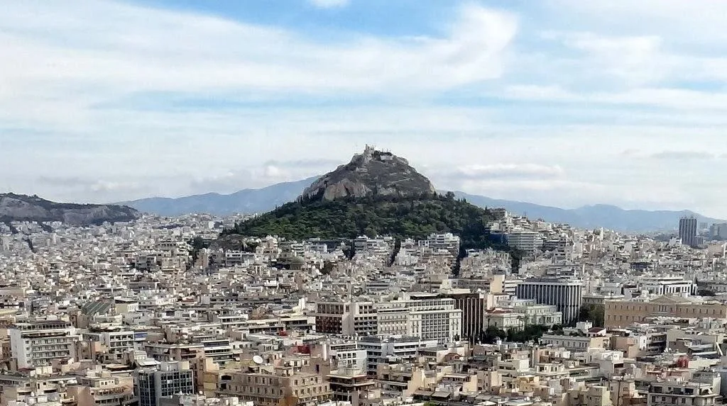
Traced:
POLYGON ((12 357, 17 368, 51 365, 52 360, 76 357, 76 342, 81 336, 71 322, 65 320, 34 320, 15 323, 8 330, 12 357))

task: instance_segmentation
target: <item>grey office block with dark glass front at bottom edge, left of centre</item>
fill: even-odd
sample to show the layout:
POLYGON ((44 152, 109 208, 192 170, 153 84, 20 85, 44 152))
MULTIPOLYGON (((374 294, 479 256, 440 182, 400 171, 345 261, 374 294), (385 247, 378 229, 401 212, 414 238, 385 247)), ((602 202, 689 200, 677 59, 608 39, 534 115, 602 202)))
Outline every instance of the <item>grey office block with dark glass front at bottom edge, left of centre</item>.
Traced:
POLYGON ((140 370, 134 390, 139 406, 159 406, 162 397, 194 393, 194 373, 188 361, 163 362, 158 370, 140 370))

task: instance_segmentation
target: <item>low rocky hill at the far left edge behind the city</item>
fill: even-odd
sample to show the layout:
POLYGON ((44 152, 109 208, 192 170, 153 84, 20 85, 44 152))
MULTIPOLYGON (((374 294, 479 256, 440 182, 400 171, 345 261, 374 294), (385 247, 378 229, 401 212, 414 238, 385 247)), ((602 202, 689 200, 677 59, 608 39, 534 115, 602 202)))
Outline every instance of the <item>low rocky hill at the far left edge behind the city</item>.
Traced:
POLYGON ((56 203, 38 196, 0 194, 0 222, 60 221, 70 225, 101 224, 106 221, 124 222, 140 218, 131 207, 115 204, 56 203))

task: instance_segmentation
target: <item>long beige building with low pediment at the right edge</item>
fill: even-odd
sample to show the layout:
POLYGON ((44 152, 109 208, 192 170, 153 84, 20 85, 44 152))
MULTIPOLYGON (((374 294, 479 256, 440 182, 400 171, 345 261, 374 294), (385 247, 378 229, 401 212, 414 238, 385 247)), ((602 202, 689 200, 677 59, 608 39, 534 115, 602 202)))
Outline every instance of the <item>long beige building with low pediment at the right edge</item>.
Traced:
POLYGON ((696 302, 681 297, 657 297, 649 302, 613 300, 606 302, 606 327, 627 327, 658 316, 678 318, 727 318, 727 305, 716 301, 696 302))

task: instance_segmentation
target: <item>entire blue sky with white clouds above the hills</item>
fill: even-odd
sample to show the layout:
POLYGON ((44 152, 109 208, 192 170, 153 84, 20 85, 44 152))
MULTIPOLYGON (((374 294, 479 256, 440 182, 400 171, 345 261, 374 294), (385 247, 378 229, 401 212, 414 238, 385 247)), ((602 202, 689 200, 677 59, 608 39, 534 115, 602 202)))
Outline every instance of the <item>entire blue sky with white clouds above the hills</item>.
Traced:
POLYGON ((727 1, 0 0, 0 191, 439 189, 727 218, 727 1))

